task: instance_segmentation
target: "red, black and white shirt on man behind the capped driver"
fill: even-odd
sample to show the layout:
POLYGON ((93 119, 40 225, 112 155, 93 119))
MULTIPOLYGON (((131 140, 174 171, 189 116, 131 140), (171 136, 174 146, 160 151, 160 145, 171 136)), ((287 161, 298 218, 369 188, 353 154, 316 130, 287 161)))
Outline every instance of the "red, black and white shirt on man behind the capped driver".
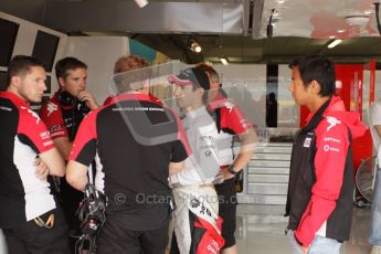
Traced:
POLYGON ((226 98, 221 92, 208 105, 219 130, 219 160, 220 165, 231 165, 234 161, 232 149, 233 137, 242 135, 252 128, 239 106, 226 98))

